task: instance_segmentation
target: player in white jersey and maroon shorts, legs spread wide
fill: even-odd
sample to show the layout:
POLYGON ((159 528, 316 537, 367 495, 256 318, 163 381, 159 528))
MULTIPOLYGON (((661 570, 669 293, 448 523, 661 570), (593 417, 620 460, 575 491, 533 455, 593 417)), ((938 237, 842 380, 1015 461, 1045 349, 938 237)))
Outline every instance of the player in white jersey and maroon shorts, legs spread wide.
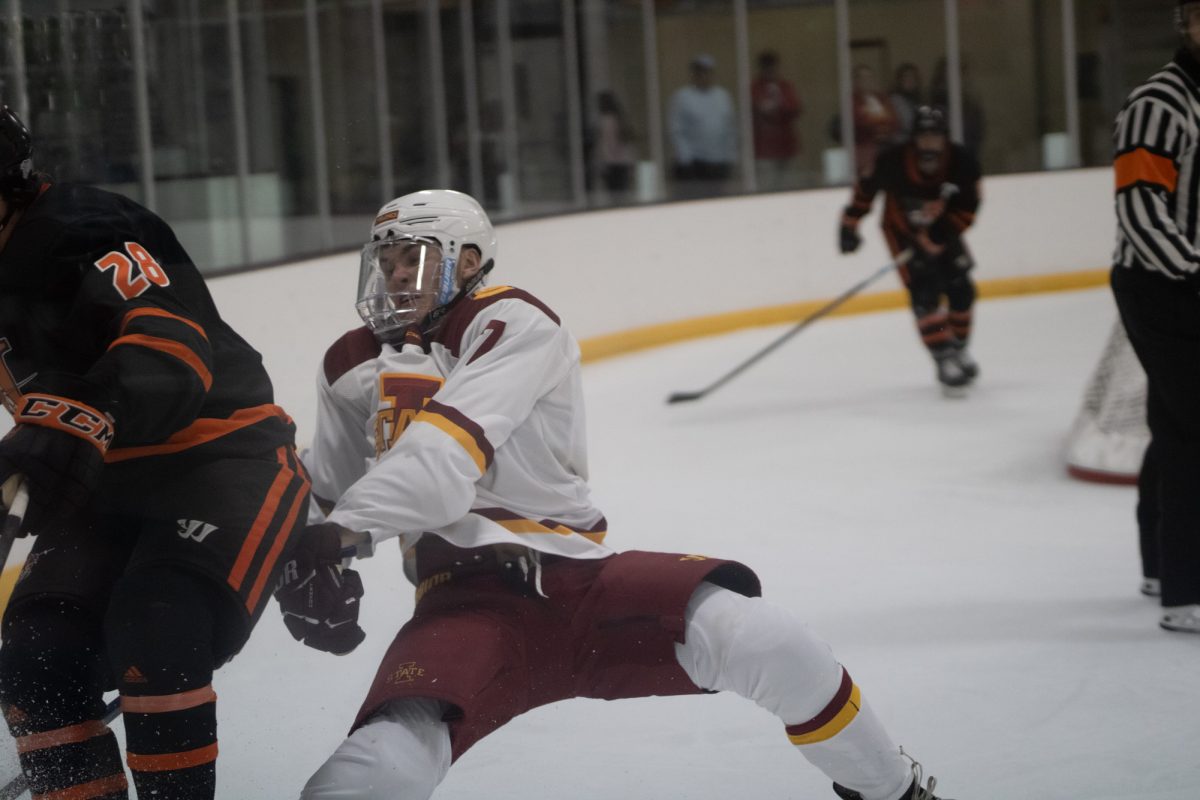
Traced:
POLYGON ((828 645, 762 600, 751 570, 608 547, 578 347, 533 295, 481 288, 496 252, 464 194, 389 203, 364 248, 366 325, 325 355, 306 461, 328 516, 276 596, 296 638, 347 652, 361 587, 340 555, 398 539, 416 604, 301 796, 422 800, 539 705, 709 690, 775 714, 840 798, 936 800, 828 645))

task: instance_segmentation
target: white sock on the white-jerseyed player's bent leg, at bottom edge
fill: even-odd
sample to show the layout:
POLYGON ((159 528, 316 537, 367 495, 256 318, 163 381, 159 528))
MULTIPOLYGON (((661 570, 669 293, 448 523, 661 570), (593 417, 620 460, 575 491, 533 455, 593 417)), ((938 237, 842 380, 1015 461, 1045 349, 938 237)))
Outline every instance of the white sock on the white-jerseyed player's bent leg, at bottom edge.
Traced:
POLYGON ((300 793, 301 800, 428 800, 450 770, 442 704, 389 704, 352 733, 300 793))

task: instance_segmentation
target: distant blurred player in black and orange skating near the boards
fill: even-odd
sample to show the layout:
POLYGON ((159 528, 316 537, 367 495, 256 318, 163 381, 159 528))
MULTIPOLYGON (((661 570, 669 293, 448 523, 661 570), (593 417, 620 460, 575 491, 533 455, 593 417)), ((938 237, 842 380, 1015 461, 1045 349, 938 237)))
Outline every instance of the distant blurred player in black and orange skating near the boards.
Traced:
POLYGON ((893 255, 912 251, 900 276, 920 338, 937 365, 937 379, 949 393, 979 374, 967 351, 974 259, 962 240, 979 209, 979 176, 976 157, 950 142, 944 112, 923 106, 912 138, 880 154, 874 172, 859 179, 839 230, 841 252, 858 249, 858 223, 883 192, 883 235, 893 255))

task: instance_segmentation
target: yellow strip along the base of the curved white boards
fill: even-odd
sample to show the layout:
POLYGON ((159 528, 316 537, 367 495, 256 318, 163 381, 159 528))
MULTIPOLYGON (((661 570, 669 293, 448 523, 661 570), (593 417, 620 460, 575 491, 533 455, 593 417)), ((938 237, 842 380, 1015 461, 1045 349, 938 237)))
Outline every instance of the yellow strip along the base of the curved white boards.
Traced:
MULTIPOLYGON (((1010 297, 1022 294, 1042 294, 1049 291, 1074 291, 1106 285, 1109 270, 1085 270, 1082 272, 1057 272, 1054 275, 1031 275, 1015 278, 992 278, 979 281, 976 287, 983 299, 1010 297)), ((617 333, 593 336, 580 342, 583 361, 599 361, 626 353, 686 342, 704 336, 720 336, 744 327, 780 325, 797 323, 829 302, 824 300, 806 300, 786 306, 764 306, 745 311, 732 311, 722 314, 680 319, 673 323, 659 323, 634 327, 617 333)), ((864 314, 875 311, 892 311, 908 305, 908 293, 899 289, 851 297, 844 306, 830 312, 830 315, 864 314)))

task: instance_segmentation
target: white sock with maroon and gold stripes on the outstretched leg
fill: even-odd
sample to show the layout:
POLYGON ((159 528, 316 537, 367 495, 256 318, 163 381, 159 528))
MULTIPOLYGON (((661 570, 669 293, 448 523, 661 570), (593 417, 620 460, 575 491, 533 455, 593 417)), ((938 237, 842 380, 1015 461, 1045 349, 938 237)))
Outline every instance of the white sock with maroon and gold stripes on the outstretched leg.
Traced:
POLYGON ((731 691, 776 715, 797 750, 864 800, 896 800, 912 772, 829 645, 786 609, 704 584, 676 657, 702 688, 731 691))

